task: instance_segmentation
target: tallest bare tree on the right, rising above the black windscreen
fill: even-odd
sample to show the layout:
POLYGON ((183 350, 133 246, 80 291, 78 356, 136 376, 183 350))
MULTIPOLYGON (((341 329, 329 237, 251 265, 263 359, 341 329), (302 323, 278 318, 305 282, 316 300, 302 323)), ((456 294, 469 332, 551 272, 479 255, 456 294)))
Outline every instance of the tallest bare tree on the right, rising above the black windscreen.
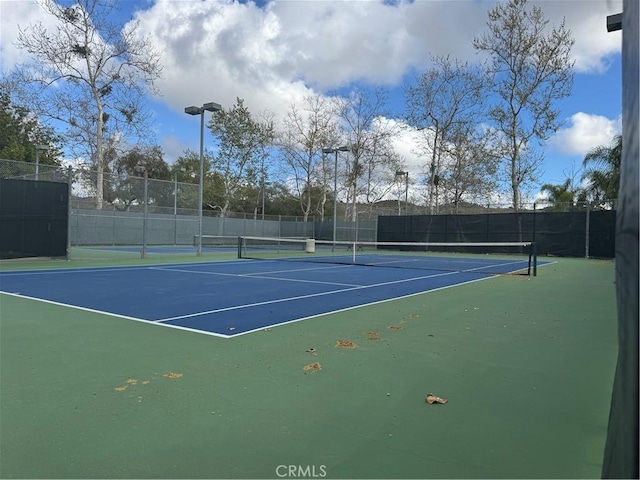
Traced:
POLYGON ((553 102, 568 96, 573 84, 570 51, 574 40, 564 25, 549 31, 540 7, 527 0, 509 0, 489 11, 489 31, 473 46, 490 56, 496 103, 490 118, 501 132, 513 208, 520 207, 521 189, 537 180, 542 144, 559 126, 553 102))

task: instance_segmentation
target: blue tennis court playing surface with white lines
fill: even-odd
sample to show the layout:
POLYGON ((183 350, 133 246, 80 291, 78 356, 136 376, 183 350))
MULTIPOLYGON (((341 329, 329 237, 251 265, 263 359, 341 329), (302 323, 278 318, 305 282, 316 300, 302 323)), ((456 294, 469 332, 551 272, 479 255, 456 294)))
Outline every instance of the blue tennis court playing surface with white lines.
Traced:
MULTIPOLYGON (((506 269, 513 267, 502 262, 506 269)), ((482 271, 235 260, 2 272, 0 291, 232 337, 491 276, 482 271)))

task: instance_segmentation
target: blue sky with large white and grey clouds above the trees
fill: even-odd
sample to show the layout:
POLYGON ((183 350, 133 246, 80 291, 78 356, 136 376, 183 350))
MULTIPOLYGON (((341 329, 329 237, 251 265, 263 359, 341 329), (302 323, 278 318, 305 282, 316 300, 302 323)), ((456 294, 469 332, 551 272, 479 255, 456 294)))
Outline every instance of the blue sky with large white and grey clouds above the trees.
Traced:
MULTIPOLYGON (((564 17, 576 40, 571 97, 558 104, 563 127, 548 142, 541 183, 579 177, 585 153, 619 133, 621 33, 606 16, 621 0, 542 0, 552 24, 564 17)), ((157 143, 172 163, 199 145, 199 120, 184 107, 243 98, 252 112, 282 118, 305 95, 379 85, 393 116, 405 112, 403 86, 429 68, 430 55, 475 62, 474 36, 485 31, 489 0, 124 0, 121 19, 136 18, 162 53, 161 95, 150 98, 157 143)), ((3 75, 25 60, 12 42, 17 25, 49 20, 35 0, 0 0, 3 75)), ((416 177, 424 160, 411 135, 397 148, 416 177)), ((212 144, 213 139, 205 140, 212 144)), ((533 192, 535 194, 535 192, 533 192)))

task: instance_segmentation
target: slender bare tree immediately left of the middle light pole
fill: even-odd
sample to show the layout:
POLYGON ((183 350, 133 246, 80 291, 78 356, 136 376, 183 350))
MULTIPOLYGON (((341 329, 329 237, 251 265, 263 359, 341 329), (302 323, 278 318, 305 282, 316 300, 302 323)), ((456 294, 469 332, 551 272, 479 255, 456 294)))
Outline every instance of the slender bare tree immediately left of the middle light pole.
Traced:
POLYGON ((302 110, 291 105, 283 125, 277 144, 284 161, 284 176, 293 185, 305 222, 314 204, 317 213, 324 216, 334 172, 322 149, 337 142, 339 130, 332 106, 321 95, 307 96, 302 110), (320 193, 320 198, 315 198, 314 192, 320 193))

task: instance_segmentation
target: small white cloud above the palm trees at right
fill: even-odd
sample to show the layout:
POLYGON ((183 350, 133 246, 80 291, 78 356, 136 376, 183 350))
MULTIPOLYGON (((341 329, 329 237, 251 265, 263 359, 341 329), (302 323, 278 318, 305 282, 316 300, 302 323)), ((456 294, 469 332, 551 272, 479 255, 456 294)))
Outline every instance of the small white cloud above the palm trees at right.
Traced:
POLYGON ((578 112, 571 116, 570 125, 549 139, 549 145, 559 152, 584 156, 593 147, 608 145, 621 131, 621 119, 578 112))

